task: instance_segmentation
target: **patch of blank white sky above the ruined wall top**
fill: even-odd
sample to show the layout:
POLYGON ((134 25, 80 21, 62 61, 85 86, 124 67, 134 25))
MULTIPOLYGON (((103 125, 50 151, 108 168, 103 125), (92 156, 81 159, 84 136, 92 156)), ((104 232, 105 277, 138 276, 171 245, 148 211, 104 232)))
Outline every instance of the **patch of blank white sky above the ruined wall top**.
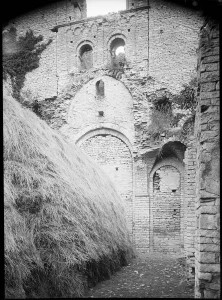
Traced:
POLYGON ((86 0, 87 17, 106 15, 126 9, 126 0, 86 0))

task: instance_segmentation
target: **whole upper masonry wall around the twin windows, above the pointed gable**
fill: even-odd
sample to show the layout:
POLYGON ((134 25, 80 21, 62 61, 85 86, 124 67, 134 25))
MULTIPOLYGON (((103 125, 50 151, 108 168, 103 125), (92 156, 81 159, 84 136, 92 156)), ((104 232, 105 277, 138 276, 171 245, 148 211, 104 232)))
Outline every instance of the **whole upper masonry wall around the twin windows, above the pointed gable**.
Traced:
MULTIPOLYGON (((110 62, 110 43, 115 37, 125 41, 128 67, 141 78, 149 78, 148 93, 157 89, 175 92, 190 80, 196 64, 198 30, 202 18, 195 11, 165 1, 149 1, 149 7, 85 18, 74 11, 73 1, 59 1, 12 20, 19 34, 32 29, 52 43, 44 50, 38 69, 26 76, 23 91, 31 90, 38 99, 58 96, 70 74, 79 71, 79 49, 89 43, 93 48, 94 68, 110 62)), ((84 4, 84 1, 83 1, 84 4)), ((6 28, 6 29, 7 29, 6 28)))

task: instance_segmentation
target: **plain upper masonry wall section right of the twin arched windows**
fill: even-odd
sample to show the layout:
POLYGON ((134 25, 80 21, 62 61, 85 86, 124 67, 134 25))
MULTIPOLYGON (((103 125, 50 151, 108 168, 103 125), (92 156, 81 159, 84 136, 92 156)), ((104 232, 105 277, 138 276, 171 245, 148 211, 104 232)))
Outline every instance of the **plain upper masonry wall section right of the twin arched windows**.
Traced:
POLYGON ((176 93, 196 74, 202 16, 170 1, 150 0, 149 7, 149 76, 154 79, 150 89, 176 93))

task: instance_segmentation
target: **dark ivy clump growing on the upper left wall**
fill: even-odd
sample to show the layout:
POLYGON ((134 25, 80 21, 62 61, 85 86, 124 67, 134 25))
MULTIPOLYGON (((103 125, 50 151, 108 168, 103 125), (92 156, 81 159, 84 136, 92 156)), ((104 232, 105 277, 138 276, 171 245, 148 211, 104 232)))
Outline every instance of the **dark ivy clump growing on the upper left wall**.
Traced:
MULTIPOLYGON (((16 29, 11 31, 16 32, 16 29)), ((10 76, 13 97, 18 101, 21 100, 20 91, 26 74, 39 67, 41 53, 52 42, 50 39, 47 43, 40 43, 42 40, 42 35, 34 36, 29 30, 16 41, 16 51, 3 53, 3 78, 6 79, 7 74, 10 76)))

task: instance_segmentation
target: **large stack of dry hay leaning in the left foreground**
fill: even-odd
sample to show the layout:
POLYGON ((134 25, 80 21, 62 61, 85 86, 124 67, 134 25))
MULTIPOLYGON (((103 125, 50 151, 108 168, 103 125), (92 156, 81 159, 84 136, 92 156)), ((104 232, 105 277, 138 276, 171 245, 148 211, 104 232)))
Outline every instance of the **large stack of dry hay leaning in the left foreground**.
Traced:
POLYGON ((79 297, 125 264, 123 203, 80 149, 5 96, 6 297, 79 297))

